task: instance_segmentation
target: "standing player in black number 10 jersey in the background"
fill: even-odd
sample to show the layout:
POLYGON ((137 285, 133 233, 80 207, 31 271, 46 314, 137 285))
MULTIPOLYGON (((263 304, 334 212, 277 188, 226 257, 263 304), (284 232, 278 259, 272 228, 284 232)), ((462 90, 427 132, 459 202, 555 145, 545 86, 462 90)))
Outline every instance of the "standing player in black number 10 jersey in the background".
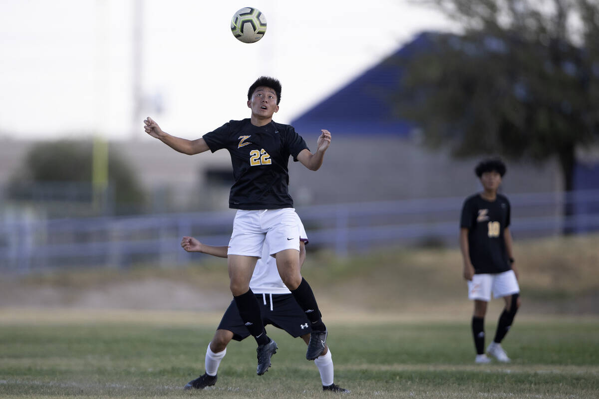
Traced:
POLYGON ((499 159, 480 162, 475 169, 483 191, 468 197, 462 208, 459 244, 464 259, 464 278, 468 281, 468 298, 474 300, 472 333, 476 347, 476 363, 489 363, 485 354, 485 315, 491 293, 503 298, 497 332, 486 352, 498 361, 510 358, 501 348, 501 340, 512 326, 520 307, 518 272, 512 255, 510 203, 497 194, 506 165, 499 159))

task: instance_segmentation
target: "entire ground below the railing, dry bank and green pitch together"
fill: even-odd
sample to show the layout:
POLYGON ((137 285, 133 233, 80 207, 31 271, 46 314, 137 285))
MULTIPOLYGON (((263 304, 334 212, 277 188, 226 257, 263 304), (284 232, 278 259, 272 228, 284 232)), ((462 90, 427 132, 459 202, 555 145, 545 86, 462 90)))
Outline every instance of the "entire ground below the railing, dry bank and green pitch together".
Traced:
MULTIPOLYGON (((523 304, 504 341, 509 365, 473 364, 456 248, 349 258, 308 248, 302 274, 329 327, 335 382, 350 397, 599 398, 597 248, 598 234, 516 240, 523 304)), ((255 342, 232 342, 217 385, 183 391, 203 373, 230 300, 223 260, 2 276, 0 397, 331 397, 305 344, 272 327, 280 349, 264 376, 255 342)), ((501 307, 489 304, 488 339, 501 307)))

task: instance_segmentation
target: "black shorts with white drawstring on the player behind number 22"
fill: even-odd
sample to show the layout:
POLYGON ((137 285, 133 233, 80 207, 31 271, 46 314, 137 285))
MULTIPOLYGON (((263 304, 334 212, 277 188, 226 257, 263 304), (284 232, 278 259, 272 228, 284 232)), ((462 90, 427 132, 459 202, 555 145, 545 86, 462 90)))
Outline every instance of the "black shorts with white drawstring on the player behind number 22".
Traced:
MULTIPOLYGON (((292 294, 256 294, 256 299, 260 305, 262 324, 265 326, 272 324, 274 327, 287 331, 294 338, 312 331, 310 321, 292 294), (273 299, 272 306, 271 297, 273 299)), ((231 301, 223 318, 220 319, 219 330, 232 331, 233 339, 237 341, 250 335, 250 331, 241 320, 235 300, 231 301)))

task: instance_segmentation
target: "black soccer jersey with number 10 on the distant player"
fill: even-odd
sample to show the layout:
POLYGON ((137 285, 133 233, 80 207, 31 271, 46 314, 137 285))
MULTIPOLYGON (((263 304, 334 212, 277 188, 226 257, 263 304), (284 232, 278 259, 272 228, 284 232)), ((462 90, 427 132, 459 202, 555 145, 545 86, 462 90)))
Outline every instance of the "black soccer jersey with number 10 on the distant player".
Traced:
POLYGON ((468 249, 474 273, 502 273, 512 269, 504 230, 510 226, 510 203, 497 194, 489 202, 480 194, 468 197, 462 207, 460 227, 468 229, 468 249))

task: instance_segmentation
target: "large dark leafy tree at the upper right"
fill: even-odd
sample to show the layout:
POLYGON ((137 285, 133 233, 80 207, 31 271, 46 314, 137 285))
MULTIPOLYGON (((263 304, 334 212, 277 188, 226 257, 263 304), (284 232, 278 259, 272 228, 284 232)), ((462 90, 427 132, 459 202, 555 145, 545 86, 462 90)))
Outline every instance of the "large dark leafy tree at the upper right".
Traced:
POLYGON ((599 137, 598 2, 425 3, 464 30, 429 33, 428 48, 389 60, 404 69, 397 112, 458 157, 557 157, 572 190, 576 148, 599 137))

